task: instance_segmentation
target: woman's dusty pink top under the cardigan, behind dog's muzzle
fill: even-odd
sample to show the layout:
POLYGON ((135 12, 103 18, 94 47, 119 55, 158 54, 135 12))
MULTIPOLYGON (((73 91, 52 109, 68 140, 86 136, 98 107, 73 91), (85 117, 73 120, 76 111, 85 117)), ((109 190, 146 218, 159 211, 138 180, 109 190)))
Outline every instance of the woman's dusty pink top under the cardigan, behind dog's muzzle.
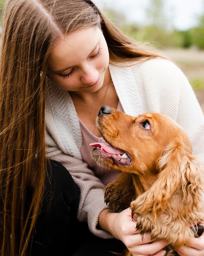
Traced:
MULTIPOLYGON (((118 102, 117 110, 123 111, 123 107, 121 106, 120 101, 118 102)), ((83 161, 88 163, 88 167, 92 169, 97 177, 103 182, 103 184, 108 184, 112 182, 116 177, 118 177, 118 171, 114 171, 113 169, 107 169, 105 167, 98 166, 96 162, 91 157, 91 152, 93 150, 92 146, 89 146, 92 142, 105 142, 102 137, 97 137, 88 130, 88 128, 83 124, 83 122, 79 119, 79 123, 81 126, 82 133, 82 145, 81 145, 81 155, 83 157, 83 161)))

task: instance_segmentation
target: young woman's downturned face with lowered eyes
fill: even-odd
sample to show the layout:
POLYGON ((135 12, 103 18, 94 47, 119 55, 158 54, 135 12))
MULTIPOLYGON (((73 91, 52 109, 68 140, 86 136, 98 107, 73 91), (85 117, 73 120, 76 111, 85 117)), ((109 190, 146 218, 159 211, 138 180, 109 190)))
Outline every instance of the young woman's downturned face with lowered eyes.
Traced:
POLYGON ((59 40, 48 57, 47 76, 67 91, 96 92, 103 85, 108 64, 101 29, 88 27, 59 40))

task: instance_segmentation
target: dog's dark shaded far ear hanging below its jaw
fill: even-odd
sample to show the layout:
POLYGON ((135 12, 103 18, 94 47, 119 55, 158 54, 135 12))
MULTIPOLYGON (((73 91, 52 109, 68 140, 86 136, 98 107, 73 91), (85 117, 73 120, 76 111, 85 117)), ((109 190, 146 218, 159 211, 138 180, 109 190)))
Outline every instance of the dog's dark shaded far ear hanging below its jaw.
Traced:
POLYGON ((121 212, 130 206, 135 198, 132 175, 120 173, 118 178, 105 187, 105 202, 111 212, 121 212))

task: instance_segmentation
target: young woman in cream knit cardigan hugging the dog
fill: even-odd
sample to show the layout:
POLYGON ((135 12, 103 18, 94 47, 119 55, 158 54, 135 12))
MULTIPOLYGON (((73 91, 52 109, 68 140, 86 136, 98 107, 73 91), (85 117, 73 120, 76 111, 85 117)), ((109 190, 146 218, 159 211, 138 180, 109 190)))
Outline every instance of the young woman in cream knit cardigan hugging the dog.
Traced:
MULTIPOLYGON (((178 67, 125 36, 90 0, 7 0, 0 85, 1 255, 23 256, 30 251, 33 255, 39 254, 41 247, 36 246, 39 243, 53 250, 59 248, 57 243, 50 243, 49 247, 38 229, 42 209, 48 216, 55 217, 57 188, 62 190, 63 198, 58 205, 62 203, 70 209, 62 211, 62 216, 70 216, 64 225, 69 229, 65 236, 76 230, 76 237, 81 233, 81 238, 74 238, 81 243, 83 234, 88 234, 86 227, 81 232, 74 218, 79 190, 77 218, 87 222, 94 234, 88 234, 90 243, 82 246, 83 249, 73 254, 69 245, 63 255, 66 252, 68 255, 108 255, 108 251, 114 251, 112 245, 106 247, 109 243, 122 250, 119 241, 108 239, 114 237, 121 240, 133 256, 165 255, 162 249, 165 242, 151 243, 149 234, 144 240, 141 238, 129 209, 108 213, 103 188, 117 173, 96 166, 90 158, 89 143, 103 141, 95 127, 95 118, 101 106, 109 105, 135 116, 146 111, 169 115, 189 134, 193 153, 203 157, 203 113, 178 67), (47 164, 48 158, 52 159, 50 164, 47 164), (64 172, 59 179, 55 178, 58 169, 64 170, 58 163, 66 167, 77 185, 65 177, 64 172), (52 190, 53 184, 56 188, 52 190), (74 197, 69 194, 73 189, 66 191, 64 184, 67 187, 72 184, 74 197), (12 195, 15 197, 11 202, 12 195), (67 202, 68 195, 74 207, 72 201, 67 202), (24 205, 26 197, 29 200, 24 205), (16 206, 19 202, 20 209, 16 206), (18 234, 19 243, 16 243, 18 234), (97 248, 98 244, 106 248, 103 253, 103 246, 97 248)), ((61 207, 57 209, 61 216, 61 207)), ((44 225, 55 226, 55 218, 50 222, 50 218, 46 220, 44 225)), ((61 221, 62 226, 63 223, 61 221)), ((49 235, 50 232, 46 233, 48 238, 49 235)), ((54 240, 52 237, 51 241, 54 240)), ((178 248, 178 253, 204 255, 204 235, 191 239, 189 247, 178 248)))

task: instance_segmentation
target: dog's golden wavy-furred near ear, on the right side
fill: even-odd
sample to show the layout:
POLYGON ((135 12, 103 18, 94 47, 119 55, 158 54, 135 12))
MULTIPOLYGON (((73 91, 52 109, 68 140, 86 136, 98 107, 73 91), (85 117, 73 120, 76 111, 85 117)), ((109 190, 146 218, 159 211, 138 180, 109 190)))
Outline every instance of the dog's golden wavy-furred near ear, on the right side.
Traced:
MULTIPOLYGON (((178 200, 192 206, 202 204, 202 171, 203 168, 197 163, 182 143, 171 142, 158 159, 158 179, 151 188, 132 202, 132 213, 152 213, 156 218, 158 213, 163 212, 168 206, 172 195, 177 193, 178 200)), ((178 202, 180 203, 180 202, 178 202)))

